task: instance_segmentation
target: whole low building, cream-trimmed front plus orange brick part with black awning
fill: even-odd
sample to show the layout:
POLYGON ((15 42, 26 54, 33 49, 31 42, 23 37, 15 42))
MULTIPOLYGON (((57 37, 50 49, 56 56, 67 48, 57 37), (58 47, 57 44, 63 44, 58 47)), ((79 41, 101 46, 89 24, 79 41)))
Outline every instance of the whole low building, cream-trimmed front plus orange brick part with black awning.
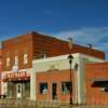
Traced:
MULTIPOLYGON (((72 56, 72 103, 108 105, 108 62, 77 53, 72 56)), ((70 70, 67 57, 63 55, 32 62, 32 80, 36 81, 33 99, 69 103, 70 70)))

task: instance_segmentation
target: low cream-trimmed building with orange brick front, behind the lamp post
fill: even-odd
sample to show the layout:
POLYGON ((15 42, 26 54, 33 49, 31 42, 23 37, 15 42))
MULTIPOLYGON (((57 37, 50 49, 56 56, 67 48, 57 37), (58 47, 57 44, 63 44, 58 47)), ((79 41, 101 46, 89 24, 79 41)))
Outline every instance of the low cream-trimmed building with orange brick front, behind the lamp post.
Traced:
MULTIPOLYGON (((86 90, 85 80, 86 64, 104 63, 105 60, 80 53, 76 53, 72 56, 72 103, 86 104, 89 93, 89 90, 86 90)), ((32 71, 32 99, 43 103, 53 100, 57 100, 59 103, 69 103, 70 67, 68 55, 60 55, 56 57, 33 60, 32 71)), ((89 79, 89 76, 86 76, 86 79, 89 79)))

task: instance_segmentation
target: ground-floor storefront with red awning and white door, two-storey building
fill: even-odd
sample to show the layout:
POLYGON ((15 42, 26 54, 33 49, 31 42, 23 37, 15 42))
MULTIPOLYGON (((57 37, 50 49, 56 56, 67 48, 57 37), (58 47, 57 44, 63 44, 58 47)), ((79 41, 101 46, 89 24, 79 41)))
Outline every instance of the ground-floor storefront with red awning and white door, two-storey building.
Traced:
POLYGON ((26 71, 3 75, 3 95, 6 98, 29 98, 30 75, 26 71))

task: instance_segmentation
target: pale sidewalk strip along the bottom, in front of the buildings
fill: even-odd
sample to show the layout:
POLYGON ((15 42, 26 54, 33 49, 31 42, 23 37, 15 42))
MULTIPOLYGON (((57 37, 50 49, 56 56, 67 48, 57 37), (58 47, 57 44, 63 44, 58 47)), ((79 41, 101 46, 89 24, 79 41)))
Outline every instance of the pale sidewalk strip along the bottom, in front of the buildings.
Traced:
POLYGON ((0 108, 108 108, 108 105, 62 105, 59 103, 40 103, 29 99, 0 99, 0 108))

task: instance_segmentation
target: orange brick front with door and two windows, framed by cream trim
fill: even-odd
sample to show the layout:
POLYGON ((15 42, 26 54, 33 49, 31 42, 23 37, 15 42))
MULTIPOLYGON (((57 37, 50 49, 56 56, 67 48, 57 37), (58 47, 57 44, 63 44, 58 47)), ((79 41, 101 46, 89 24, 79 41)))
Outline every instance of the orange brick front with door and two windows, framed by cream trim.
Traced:
MULTIPOLYGON (((75 85, 75 73, 72 70, 72 85, 75 85)), ((53 70, 38 72, 37 78, 37 102, 60 102, 69 103, 70 79, 69 70, 53 70)), ((76 89, 72 89, 71 98, 76 100, 76 89)))

